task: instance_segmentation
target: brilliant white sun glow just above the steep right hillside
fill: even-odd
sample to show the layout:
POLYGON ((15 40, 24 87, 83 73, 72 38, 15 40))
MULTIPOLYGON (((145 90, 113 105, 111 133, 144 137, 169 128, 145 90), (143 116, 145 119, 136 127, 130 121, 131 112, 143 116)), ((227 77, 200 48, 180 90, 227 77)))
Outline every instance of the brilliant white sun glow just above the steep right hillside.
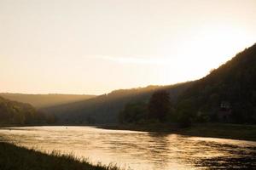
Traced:
MULTIPOLYGON (((204 77, 254 43, 247 30, 239 26, 202 26, 190 35, 174 50, 175 56, 164 59, 165 66, 160 68, 162 84, 204 77), (172 77, 172 82, 166 77, 172 77)), ((170 48, 169 43, 166 44, 170 48)), ((169 51, 166 48, 166 56, 169 51)))

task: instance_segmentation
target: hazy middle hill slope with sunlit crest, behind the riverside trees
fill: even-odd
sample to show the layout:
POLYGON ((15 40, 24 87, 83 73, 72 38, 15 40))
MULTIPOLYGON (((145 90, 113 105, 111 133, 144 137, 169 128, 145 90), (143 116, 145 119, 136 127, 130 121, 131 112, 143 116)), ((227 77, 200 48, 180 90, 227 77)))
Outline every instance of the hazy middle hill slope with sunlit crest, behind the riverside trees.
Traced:
POLYGON ((44 108, 43 111, 54 114, 59 122, 65 123, 114 123, 118 114, 128 103, 147 101, 159 89, 166 89, 172 102, 193 82, 184 82, 171 86, 148 86, 147 88, 121 89, 93 99, 67 105, 44 108))

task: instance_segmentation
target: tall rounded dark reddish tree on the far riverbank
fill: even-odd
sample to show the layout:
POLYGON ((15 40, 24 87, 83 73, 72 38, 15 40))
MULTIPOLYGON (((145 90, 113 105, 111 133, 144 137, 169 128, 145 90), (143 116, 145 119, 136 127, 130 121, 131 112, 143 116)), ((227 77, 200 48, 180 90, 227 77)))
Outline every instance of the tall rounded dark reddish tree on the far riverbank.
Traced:
POLYGON ((156 91, 148 103, 148 118, 166 122, 166 116, 171 111, 170 96, 166 90, 156 91))

